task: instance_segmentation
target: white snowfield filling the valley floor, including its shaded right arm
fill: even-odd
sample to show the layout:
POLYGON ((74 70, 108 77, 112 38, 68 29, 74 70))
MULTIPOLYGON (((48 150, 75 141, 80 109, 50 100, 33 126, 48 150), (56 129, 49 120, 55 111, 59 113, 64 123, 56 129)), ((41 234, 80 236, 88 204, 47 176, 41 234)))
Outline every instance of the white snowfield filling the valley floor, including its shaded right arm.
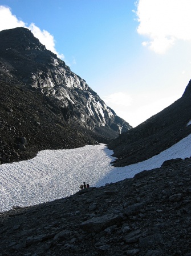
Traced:
POLYGON ((83 182, 100 187, 160 167, 165 160, 190 157, 190 141, 191 134, 160 154, 125 167, 111 166, 113 151, 103 144, 44 150, 33 159, 0 165, 0 211, 67 197, 83 182))

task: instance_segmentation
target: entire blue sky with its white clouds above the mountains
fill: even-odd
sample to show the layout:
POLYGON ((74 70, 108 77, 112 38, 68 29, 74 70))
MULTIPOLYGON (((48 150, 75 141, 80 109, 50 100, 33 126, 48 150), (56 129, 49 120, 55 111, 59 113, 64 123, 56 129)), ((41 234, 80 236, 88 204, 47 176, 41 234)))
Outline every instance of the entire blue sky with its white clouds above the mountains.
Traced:
POLYGON ((191 78, 190 9, 190 0, 1 0, 0 30, 29 27, 135 127, 191 78))

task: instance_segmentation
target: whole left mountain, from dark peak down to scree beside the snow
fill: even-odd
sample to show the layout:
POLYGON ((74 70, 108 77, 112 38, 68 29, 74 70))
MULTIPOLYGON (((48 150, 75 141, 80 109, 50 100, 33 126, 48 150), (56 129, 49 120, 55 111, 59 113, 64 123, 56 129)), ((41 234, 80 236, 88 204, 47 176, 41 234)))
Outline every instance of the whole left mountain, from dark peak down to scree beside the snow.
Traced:
POLYGON ((23 27, 0 32, 0 106, 1 163, 108 143, 132 129, 23 27))

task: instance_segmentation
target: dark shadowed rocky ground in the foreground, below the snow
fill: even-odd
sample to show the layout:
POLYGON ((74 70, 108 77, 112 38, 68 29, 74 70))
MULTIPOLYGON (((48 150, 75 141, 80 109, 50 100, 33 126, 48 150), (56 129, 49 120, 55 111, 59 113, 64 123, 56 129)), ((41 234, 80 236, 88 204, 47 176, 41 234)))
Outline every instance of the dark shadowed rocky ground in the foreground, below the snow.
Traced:
MULTIPOLYGON (((191 255, 191 159, 0 214, 0 255, 191 255)), ((78 184, 76 184, 78 186, 78 184)))

